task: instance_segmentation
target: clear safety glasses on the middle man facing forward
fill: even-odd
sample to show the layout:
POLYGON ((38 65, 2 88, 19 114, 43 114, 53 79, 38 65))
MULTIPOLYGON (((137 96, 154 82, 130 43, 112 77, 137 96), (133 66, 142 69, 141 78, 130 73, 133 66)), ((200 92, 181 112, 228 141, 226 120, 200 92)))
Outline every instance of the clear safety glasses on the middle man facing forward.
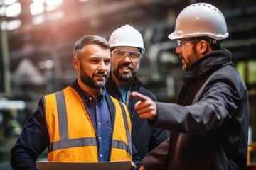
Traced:
POLYGON ((127 50, 112 50, 111 55, 117 58, 122 58, 125 55, 129 54, 130 60, 132 62, 138 62, 139 60, 142 59, 142 54, 140 52, 135 52, 135 51, 127 51, 127 50))

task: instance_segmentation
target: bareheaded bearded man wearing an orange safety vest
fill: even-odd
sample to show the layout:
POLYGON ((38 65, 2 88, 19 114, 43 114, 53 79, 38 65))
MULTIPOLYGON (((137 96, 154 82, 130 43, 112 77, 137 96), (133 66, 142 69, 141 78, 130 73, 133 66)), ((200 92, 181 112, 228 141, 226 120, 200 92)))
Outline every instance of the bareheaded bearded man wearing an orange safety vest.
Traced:
POLYGON ((41 97, 11 150, 13 169, 37 169, 48 147, 50 162, 113 162, 139 157, 132 145, 131 121, 124 103, 106 93, 110 46, 96 35, 75 43, 72 86, 41 97))

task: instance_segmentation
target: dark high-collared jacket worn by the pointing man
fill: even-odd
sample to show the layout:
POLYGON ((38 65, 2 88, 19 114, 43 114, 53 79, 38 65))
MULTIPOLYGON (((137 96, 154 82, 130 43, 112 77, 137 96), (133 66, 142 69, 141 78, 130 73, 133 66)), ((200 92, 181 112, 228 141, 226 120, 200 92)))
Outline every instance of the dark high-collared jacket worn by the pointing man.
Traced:
POLYGON ((246 169, 248 96, 231 53, 210 52, 190 69, 193 75, 186 77, 178 104, 156 103, 158 118, 150 123, 171 130, 170 140, 145 157, 143 166, 146 170, 246 169))

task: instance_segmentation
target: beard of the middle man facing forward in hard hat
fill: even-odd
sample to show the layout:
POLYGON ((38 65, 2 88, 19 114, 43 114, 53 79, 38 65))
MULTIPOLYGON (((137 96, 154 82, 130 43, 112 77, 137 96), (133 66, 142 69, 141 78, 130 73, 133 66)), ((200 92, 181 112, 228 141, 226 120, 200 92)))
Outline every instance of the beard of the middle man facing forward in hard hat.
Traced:
POLYGON ((112 73, 119 79, 119 81, 128 82, 131 81, 134 77, 136 72, 132 67, 129 67, 129 73, 122 74, 119 70, 122 69, 121 67, 129 67, 127 64, 120 64, 117 69, 113 69, 112 73))

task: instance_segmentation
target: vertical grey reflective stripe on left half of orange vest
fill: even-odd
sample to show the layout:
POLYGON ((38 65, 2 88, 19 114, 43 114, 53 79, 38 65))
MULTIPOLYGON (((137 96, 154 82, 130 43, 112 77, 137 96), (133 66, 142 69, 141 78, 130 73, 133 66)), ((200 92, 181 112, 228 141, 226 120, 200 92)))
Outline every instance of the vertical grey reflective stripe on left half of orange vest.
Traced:
POLYGON ((60 132, 60 140, 68 140, 68 118, 65 105, 65 96, 63 91, 55 93, 58 113, 58 126, 60 132))

